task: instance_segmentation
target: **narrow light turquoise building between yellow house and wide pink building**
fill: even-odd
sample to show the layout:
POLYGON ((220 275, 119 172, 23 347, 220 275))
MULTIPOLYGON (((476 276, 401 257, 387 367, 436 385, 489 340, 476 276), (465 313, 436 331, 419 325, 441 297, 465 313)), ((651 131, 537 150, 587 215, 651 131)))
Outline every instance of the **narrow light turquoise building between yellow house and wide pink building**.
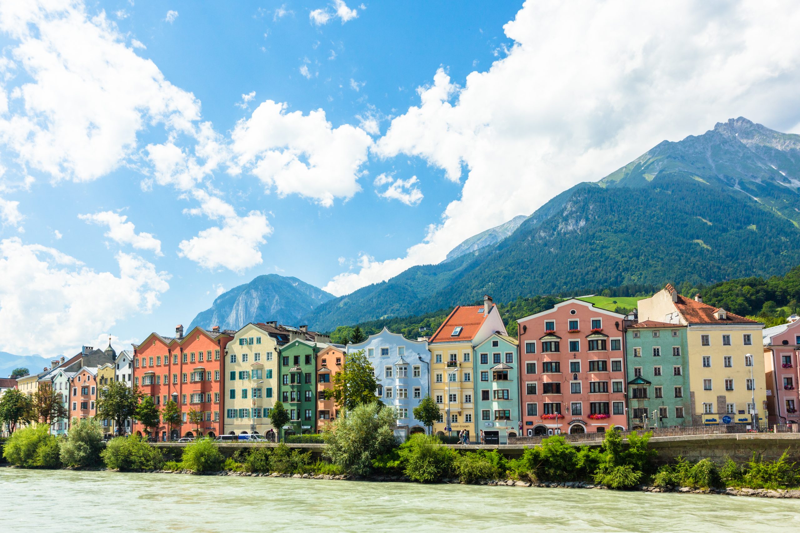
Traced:
POLYGON ((506 444, 522 426, 518 346, 518 340, 494 333, 474 348, 477 429, 486 444, 506 444))

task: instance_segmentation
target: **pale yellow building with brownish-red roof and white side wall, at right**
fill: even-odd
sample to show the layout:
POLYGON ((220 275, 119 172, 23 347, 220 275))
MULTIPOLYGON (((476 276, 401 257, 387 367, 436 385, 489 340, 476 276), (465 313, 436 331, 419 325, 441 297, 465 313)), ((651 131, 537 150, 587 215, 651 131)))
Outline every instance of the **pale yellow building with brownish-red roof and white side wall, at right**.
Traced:
POLYGON ((766 422, 762 328, 754 320, 678 294, 667 284, 638 301, 639 320, 686 325, 693 424, 766 422))

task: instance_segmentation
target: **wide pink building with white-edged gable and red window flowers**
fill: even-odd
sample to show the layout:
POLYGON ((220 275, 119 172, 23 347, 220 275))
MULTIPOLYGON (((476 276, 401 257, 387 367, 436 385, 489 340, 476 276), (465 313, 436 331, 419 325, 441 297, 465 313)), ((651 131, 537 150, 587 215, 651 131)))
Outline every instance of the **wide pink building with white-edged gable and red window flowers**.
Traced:
POLYGON ((523 435, 627 427, 623 318, 572 298, 517 320, 523 435))

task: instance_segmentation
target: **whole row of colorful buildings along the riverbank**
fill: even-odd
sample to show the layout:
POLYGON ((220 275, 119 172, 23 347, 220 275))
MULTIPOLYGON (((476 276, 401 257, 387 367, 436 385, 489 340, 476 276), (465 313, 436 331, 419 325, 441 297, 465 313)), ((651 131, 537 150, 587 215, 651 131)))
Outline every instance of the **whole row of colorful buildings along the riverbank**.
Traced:
MULTIPOLYGON (((65 391, 71 420, 94 416, 104 380, 123 380, 158 406, 180 406, 180 426, 161 424, 158 440, 274 438, 269 414, 278 400, 290 413, 287 435, 319 432, 334 420, 338 406, 325 391, 347 356, 363 350, 377 395, 398 413, 398 435, 425 430, 414 408, 429 395, 440 408, 435 433, 464 431, 488 444, 611 427, 800 421, 800 321, 763 329, 667 284, 630 315, 573 298, 516 322, 517 335, 509 336, 485 296, 482 305, 454 308, 432 336, 417 340, 385 328, 345 346, 276 322, 186 334, 178 326, 174 336, 151 333, 119 356, 110 346, 85 348, 17 386, 32 392, 52 381, 65 391), (202 423, 190 423, 190 411, 202 412, 202 423)), ((134 421, 127 431, 144 428, 134 421)))

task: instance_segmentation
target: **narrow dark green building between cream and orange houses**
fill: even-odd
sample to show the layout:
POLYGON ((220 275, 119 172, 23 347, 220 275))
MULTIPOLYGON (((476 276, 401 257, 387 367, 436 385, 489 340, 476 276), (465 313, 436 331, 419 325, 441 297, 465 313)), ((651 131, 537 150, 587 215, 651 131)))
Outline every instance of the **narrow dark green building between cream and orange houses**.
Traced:
POLYGON ((285 435, 317 432, 317 354, 327 346, 298 339, 280 348, 280 398, 290 414, 285 435))

